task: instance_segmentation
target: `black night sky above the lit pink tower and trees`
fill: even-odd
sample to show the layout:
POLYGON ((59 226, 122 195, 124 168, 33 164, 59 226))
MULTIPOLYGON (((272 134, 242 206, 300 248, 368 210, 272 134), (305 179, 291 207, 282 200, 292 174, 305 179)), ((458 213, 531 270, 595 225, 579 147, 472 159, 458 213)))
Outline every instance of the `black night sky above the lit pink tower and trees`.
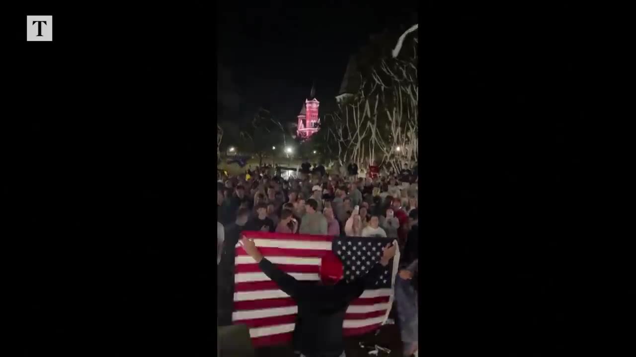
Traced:
MULTIPOLYGON (((223 1, 218 10, 219 106, 229 118, 254 107, 293 121, 315 81, 322 104, 334 100, 349 56, 385 28, 417 22, 417 3, 223 1)), ((224 116, 223 119, 228 119, 224 116)))

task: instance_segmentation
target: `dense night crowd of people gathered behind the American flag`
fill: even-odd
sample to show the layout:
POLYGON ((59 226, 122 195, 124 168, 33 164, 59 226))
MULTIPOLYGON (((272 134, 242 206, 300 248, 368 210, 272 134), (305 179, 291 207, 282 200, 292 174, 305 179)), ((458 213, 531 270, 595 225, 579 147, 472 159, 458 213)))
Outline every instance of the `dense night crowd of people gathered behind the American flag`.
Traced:
MULTIPOLYGON (((267 166, 228 176, 217 190, 219 281, 233 276, 234 246, 242 231, 395 238, 401 258, 395 299, 404 356, 417 351, 417 168, 382 172, 357 165, 326 170, 303 163, 282 179, 267 166), (225 277, 225 278, 223 278, 225 277)), ((222 283, 221 283, 222 284, 222 283)), ((219 284, 219 325, 232 323, 232 284, 219 284)))

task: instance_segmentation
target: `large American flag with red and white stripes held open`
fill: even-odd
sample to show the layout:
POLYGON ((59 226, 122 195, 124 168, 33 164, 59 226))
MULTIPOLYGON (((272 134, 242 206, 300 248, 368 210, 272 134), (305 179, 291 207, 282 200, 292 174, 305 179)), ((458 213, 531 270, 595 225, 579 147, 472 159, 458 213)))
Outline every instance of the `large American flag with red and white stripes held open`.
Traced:
MULTIPOLYGON (((320 280, 321 258, 333 251, 343 262, 345 279, 363 276, 382 257, 382 248, 390 238, 333 237, 310 234, 285 234, 244 231, 254 239, 263 256, 296 280, 320 280)), ((382 325, 393 304, 393 286, 399 252, 387 265, 372 288, 354 300, 345 315, 345 336, 361 335, 382 325)), ((291 341, 298 306, 282 292, 242 246, 236 247, 234 275, 234 324, 245 324, 254 347, 291 341)))

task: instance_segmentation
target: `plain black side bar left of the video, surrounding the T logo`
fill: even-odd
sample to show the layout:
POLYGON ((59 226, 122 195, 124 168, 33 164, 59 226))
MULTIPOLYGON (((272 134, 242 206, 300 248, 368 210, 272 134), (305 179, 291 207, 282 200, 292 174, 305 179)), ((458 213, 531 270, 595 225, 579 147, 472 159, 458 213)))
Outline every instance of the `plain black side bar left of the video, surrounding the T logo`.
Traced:
POLYGON ((195 356, 212 340, 213 12, 3 11, 8 354, 195 356), (53 15, 52 43, 25 41, 27 14, 53 15))

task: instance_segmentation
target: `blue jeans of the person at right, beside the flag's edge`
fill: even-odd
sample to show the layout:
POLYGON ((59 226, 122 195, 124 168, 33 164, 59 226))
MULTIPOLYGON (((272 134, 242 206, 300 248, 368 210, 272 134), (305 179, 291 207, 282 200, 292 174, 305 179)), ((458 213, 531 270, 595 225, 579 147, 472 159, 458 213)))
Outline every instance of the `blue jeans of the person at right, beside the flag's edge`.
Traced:
POLYGON ((396 276, 396 307, 402 342, 417 342, 417 292, 410 280, 396 276))

